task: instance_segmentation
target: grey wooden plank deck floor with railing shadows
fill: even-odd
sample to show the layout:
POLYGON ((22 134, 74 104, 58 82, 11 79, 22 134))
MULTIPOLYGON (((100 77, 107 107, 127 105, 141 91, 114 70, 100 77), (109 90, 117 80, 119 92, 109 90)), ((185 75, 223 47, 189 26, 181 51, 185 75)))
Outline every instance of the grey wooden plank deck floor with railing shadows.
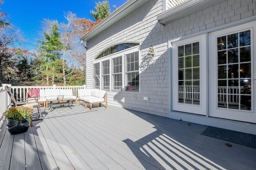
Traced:
POLYGON ((201 135, 206 126, 109 106, 0 132, 0 170, 256 169, 256 149, 201 135))

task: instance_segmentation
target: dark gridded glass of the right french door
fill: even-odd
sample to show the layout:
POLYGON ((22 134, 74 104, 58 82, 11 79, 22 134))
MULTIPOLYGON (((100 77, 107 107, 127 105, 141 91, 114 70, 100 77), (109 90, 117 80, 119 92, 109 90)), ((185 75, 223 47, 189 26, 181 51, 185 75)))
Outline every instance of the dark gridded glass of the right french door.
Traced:
POLYGON ((218 107, 251 110, 251 31, 217 37, 218 107))

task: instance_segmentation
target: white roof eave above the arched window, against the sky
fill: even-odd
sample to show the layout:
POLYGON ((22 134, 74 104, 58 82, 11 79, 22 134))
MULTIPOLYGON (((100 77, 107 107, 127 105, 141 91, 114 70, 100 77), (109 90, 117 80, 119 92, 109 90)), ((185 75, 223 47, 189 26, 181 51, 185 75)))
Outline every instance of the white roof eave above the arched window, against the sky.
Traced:
POLYGON ((116 21, 121 20, 126 15, 130 14, 136 8, 147 2, 148 0, 128 0, 122 6, 117 8, 114 12, 112 12, 107 18, 101 21, 98 25, 96 25, 93 29, 88 31, 85 35, 83 35, 80 40, 88 41, 95 37, 98 33, 104 31, 111 25, 113 25, 116 21))

